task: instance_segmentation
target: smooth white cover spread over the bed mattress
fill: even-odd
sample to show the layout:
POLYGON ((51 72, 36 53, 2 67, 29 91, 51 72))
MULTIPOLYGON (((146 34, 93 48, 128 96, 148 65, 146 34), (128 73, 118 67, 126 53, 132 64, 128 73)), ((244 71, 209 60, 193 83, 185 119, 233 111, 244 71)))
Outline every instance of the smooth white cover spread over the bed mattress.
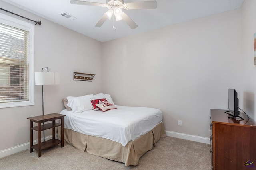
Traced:
POLYGON ((103 137, 125 146, 148 133, 162 121, 159 109, 148 107, 118 106, 108 111, 88 110, 82 113, 62 110, 64 128, 86 135, 103 137))

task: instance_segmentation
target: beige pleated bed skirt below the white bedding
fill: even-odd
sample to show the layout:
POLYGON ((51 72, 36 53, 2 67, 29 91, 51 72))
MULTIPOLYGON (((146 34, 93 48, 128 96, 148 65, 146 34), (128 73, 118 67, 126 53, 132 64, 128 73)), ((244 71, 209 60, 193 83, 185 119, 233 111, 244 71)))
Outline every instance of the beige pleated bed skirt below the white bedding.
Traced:
MULTIPOLYGON (((58 127, 60 132, 60 127, 58 127)), ((58 133, 60 139, 60 133, 58 133)), ((148 133, 123 147, 109 139, 84 135, 71 129, 64 129, 64 142, 76 149, 110 160, 123 162, 125 166, 138 165, 140 157, 156 145, 160 137, 166 137, 164 123, 159 123, 148 133)))

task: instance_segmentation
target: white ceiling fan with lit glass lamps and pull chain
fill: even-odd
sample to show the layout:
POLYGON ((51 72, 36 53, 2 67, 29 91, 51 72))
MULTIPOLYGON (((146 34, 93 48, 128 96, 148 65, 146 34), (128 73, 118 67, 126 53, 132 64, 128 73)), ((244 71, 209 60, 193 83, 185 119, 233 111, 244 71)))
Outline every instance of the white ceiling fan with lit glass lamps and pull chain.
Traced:
MULTIPOLYGON (((71 4, 77 5, 90 5, 90 6, 100 6, 107 7, 109 10, 104 13, 102 18, 96 23, 96 27, 101 27, 102 24, 107 20, 111 19, 114 14, 114 21, 124 20, 131 29, 135 29, 138 25, 122 11, 125 10, 134 10, 134 9, 156 9, 156 1, 143 1, 143 2, 128 2, 124 3, 123 0, 106 0, 106 4, 98 2, 88 2, 80 0, 70 0, 71 4)), ((113 26, 113 29, 116 30, 116 27, 113 26)))

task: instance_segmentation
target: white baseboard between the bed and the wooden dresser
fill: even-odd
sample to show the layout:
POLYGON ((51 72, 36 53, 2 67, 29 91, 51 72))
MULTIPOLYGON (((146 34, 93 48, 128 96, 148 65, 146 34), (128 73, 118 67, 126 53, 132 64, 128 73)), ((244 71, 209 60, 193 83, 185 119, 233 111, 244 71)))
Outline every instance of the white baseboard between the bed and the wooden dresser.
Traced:
POLYGON ((166 136, 169 136, 169 137, 176 137, 176 138, 180 138, 180 139, 186 139, 186 140, 190 140, 190 141, 196 141, 196 142, 200 142, 200 143, 210 144, 210 138, 207 138, 207 137, 188 135, 185 133, 178 133, 178 132, 172 132, 172 131, 165 131, 165 132, 166 132, 166 136))

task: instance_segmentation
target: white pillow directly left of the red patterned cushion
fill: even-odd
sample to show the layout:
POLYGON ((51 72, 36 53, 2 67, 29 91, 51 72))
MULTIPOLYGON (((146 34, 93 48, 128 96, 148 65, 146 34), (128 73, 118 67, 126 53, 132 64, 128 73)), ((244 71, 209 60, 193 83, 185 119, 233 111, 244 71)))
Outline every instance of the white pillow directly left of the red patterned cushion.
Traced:
POLYGON ((69 98, 68 99, 68 107, 71 107, 73 112, 75 113, 82 113, 83 111, 86 110, 92 110, 92 103, 90 99, 93 99, 93 94, 85 95, 85 96, 80 96, 80 97, 74 97, 74 98, 69 98))

